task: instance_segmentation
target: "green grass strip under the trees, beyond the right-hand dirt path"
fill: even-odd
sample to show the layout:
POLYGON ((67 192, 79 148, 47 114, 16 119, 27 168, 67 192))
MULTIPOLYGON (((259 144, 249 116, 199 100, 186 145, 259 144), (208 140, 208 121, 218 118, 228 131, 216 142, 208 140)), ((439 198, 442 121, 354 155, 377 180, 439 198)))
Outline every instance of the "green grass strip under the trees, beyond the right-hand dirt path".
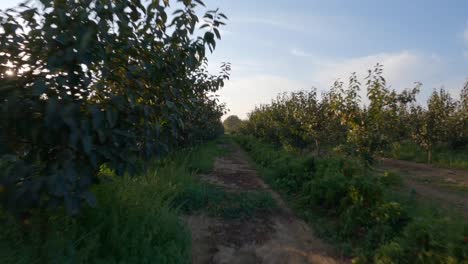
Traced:
MULTIPOLYGON (((410 142, 395 145, 386 156, 393 159, 427 163, 427 153, 410 142)), ((432 163, 444 168, 468 170, 468 149, 452 150, 447 146, 439 145, 434 149, 432 163)))

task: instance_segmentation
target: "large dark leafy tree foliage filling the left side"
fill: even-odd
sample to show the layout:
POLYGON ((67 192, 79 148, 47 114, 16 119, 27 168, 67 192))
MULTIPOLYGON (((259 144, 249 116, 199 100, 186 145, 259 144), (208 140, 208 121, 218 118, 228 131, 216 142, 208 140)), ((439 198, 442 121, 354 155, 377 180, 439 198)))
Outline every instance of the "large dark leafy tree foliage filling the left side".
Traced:
POLYGON ((95 205, 89 190, 102 164, 122 175, 223 132, 213 93, 230 65, 208 74, 205 50, 226 16, 207 11, 200 21, 199 6, 177 1, 171 20, 168 0, 42 0, 0 13, 5 208, 76 214, 95 205))

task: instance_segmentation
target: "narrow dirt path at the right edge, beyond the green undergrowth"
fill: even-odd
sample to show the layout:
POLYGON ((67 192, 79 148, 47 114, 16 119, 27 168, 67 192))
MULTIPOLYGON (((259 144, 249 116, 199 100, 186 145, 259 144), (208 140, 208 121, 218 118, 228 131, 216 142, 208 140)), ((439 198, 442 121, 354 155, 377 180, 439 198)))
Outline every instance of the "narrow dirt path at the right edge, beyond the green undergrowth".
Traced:
POLYGON ((468 171, 391 159, 383 159, 380 168, 401 173, 405 185, 418 195, 456 208, 468 218, 468 171))

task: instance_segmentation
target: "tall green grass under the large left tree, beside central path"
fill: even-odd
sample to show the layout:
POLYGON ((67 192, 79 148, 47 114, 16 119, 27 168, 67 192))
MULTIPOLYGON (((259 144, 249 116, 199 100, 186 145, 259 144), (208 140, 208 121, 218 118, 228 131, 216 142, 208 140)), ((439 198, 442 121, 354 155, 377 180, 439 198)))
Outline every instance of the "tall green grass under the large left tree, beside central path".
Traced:
MULTIPOLYGON (((193 173, 209 172, 216 156, 226 152, 218 144, 145 163, 132 177, 116 177, 103 166, 102 184, 92 190, 98 206, 84 208, 78 217, 63 210, 34 211, 19 222, 0 210, 0 263, 189 263, 191 235, 180 219, 187 203, 180 197, 201 186, 193 173)), ((211 198, 190 197, 203 200, 203 206, 211 198)), ((263 206, 251 204, 249 197, 240 200, 242 208, 263 206)), ((223 210, 219 214, 236 214, 235 207, 223 210)))

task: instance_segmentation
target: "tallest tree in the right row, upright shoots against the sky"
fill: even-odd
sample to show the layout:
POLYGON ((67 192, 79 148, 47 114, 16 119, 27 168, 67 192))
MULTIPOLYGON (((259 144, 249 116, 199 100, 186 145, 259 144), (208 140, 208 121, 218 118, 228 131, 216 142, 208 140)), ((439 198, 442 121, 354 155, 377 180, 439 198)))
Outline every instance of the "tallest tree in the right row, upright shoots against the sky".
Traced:
MULTIPOLYGON (((359 86, 356 76, 352 75, 347 91, 351 99, 348 101, 358 97, 359 86)), ((382 65, 377 64, 373 70, 369 70, 366 88, 369 106, 360 110, 360 106, 354 103, 353 115, 346 120, 350 129, 347 138, 356 154, 372 161, 373 155, 381 154, 391 142, 399 140, 404 134, 401 129, 405 126, 405 113, 408 104, 415 101, 419 84, 412 90, 398 94, 387 87, 382 65)))

